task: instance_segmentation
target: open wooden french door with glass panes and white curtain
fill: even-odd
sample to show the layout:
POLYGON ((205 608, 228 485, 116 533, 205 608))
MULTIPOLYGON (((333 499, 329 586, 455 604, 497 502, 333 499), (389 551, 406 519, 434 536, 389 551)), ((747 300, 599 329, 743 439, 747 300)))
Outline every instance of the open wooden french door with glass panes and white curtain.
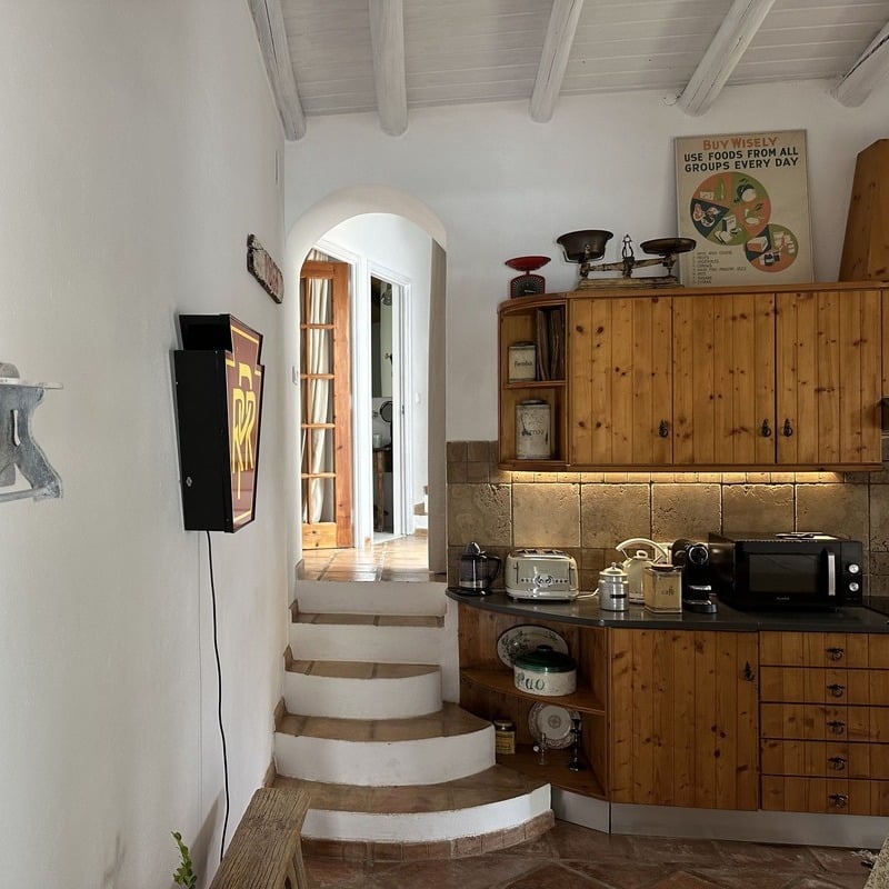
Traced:
POLYGON ((352 546, 349 266, 300 272, 302 548, 352 546))

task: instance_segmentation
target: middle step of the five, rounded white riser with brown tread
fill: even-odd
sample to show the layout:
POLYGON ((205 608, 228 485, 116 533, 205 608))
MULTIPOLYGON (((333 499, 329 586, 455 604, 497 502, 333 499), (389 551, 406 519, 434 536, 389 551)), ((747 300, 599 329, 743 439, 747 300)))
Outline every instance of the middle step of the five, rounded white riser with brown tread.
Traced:
POLYGON ((292 660, 284 672, 291 713, 402 719, 441 709, 441 670, 428 663, 292 660))

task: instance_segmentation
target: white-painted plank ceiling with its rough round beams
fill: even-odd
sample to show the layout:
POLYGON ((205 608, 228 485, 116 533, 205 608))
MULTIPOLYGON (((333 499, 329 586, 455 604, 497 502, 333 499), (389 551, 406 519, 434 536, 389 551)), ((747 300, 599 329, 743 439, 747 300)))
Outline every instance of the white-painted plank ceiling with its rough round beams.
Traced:
MULTIPOLYGON (((660 90, 691 114, 725 84, 889 89, 889 0, 249 0, 289 139, 317 114, 660 90)), ((310 124, 309 124, 310 126, 310 124)))

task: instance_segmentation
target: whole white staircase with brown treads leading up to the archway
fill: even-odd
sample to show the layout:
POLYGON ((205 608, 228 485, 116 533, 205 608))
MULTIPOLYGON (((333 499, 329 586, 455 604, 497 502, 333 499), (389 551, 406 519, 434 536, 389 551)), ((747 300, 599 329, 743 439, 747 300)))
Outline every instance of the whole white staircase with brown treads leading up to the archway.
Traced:
POLYGON ((443 583, 301 580, 291 618, 276 785, 311 793, 309 841, 456 857, 552 825, 549 785, 497 766, 493 727, 456 703, 443 583))

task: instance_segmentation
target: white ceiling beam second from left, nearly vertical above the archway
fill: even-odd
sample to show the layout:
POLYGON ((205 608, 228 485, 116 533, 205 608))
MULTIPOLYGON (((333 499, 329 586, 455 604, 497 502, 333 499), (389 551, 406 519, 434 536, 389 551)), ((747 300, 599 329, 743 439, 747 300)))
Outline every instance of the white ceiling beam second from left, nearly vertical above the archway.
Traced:
POLYGON ((403 0, 369 0, 373 83, 380 127, 389 136, 408 129, 403 0))

